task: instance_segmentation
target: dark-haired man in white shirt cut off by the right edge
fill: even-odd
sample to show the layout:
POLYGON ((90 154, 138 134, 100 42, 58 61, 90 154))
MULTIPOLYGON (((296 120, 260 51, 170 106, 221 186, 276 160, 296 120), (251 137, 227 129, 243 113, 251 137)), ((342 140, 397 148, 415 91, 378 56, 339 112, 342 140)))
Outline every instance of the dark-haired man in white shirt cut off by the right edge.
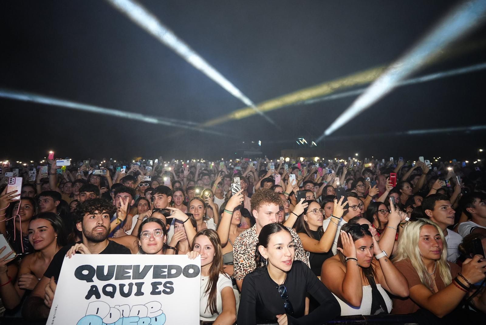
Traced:
POLYGON ((463 237, 469 234, 486 235, 486 194, 473 192, 461 198, 459 205, 469 220, 459 224, 457 231, 463 237))

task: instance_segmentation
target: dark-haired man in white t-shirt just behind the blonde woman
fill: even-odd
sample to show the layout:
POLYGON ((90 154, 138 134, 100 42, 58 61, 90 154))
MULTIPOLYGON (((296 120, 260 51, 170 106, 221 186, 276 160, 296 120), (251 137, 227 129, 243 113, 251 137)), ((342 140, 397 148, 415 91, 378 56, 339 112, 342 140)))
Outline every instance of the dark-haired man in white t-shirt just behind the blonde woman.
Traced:
MULTIPOLYGON (((442 194, 429 195, 422 201, 424 214, 434 221, 444 233, 447 244, 447 260, 455 263, 459 257, 458 246, 462 243, 462 236, 447 229, 454 224, 455 211, 451 201, 442 194)), ((445 245, 444 245, 445 246, 445 245)))

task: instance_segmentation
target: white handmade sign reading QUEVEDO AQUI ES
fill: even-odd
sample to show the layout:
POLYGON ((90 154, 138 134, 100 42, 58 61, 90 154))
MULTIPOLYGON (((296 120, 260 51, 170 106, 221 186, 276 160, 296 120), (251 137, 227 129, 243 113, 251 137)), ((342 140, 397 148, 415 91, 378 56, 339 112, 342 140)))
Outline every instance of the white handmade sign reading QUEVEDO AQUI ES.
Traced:
POLYGON ((200 257, 75 254, 65 258, 49 325, 199 324, 200 257))

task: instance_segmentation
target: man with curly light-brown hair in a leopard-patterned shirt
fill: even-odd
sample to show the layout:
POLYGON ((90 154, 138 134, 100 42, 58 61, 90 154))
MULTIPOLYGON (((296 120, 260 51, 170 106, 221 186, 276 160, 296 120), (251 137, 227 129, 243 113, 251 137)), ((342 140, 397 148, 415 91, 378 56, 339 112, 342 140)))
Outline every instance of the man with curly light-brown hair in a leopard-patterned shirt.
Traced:
MULTIPOLYGON (((258 235, 264 226, 278 221, 278 214, 280 213, 279 205, 282 204, 282 200, 278 193, 270 189, 262 188, 253 194, 250 204, 251 210, 253 211, 253 217, 255 217, 257 222, 253 227, 238 235, 233 243, 234 277, 240 290, 245 275, 254 271, 258 267, 255 261, 258 235)), ((309 260, 302 247, 299 236, 295 233, 294 229, 287 228, 294 241, 295 259, 308 264, 309 260)))

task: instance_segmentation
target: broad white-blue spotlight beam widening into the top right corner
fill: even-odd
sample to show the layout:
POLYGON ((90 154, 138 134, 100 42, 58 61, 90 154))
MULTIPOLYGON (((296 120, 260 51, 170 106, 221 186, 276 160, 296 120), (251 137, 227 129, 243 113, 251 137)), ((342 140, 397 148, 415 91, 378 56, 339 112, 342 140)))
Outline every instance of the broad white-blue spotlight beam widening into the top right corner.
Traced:
POLYGON ((452 41, 478 26, 484 20, 485 12, 486 0, 471 0, 462 3, 412 50, 394 62, 374 81, 364 94, 358 97, 349 108, 338 116, 317 141, 321 141, 325 136, 344 126, 355 116, 392 91, 401 80, 420 69, 428 59, 439 53, 452 41))

